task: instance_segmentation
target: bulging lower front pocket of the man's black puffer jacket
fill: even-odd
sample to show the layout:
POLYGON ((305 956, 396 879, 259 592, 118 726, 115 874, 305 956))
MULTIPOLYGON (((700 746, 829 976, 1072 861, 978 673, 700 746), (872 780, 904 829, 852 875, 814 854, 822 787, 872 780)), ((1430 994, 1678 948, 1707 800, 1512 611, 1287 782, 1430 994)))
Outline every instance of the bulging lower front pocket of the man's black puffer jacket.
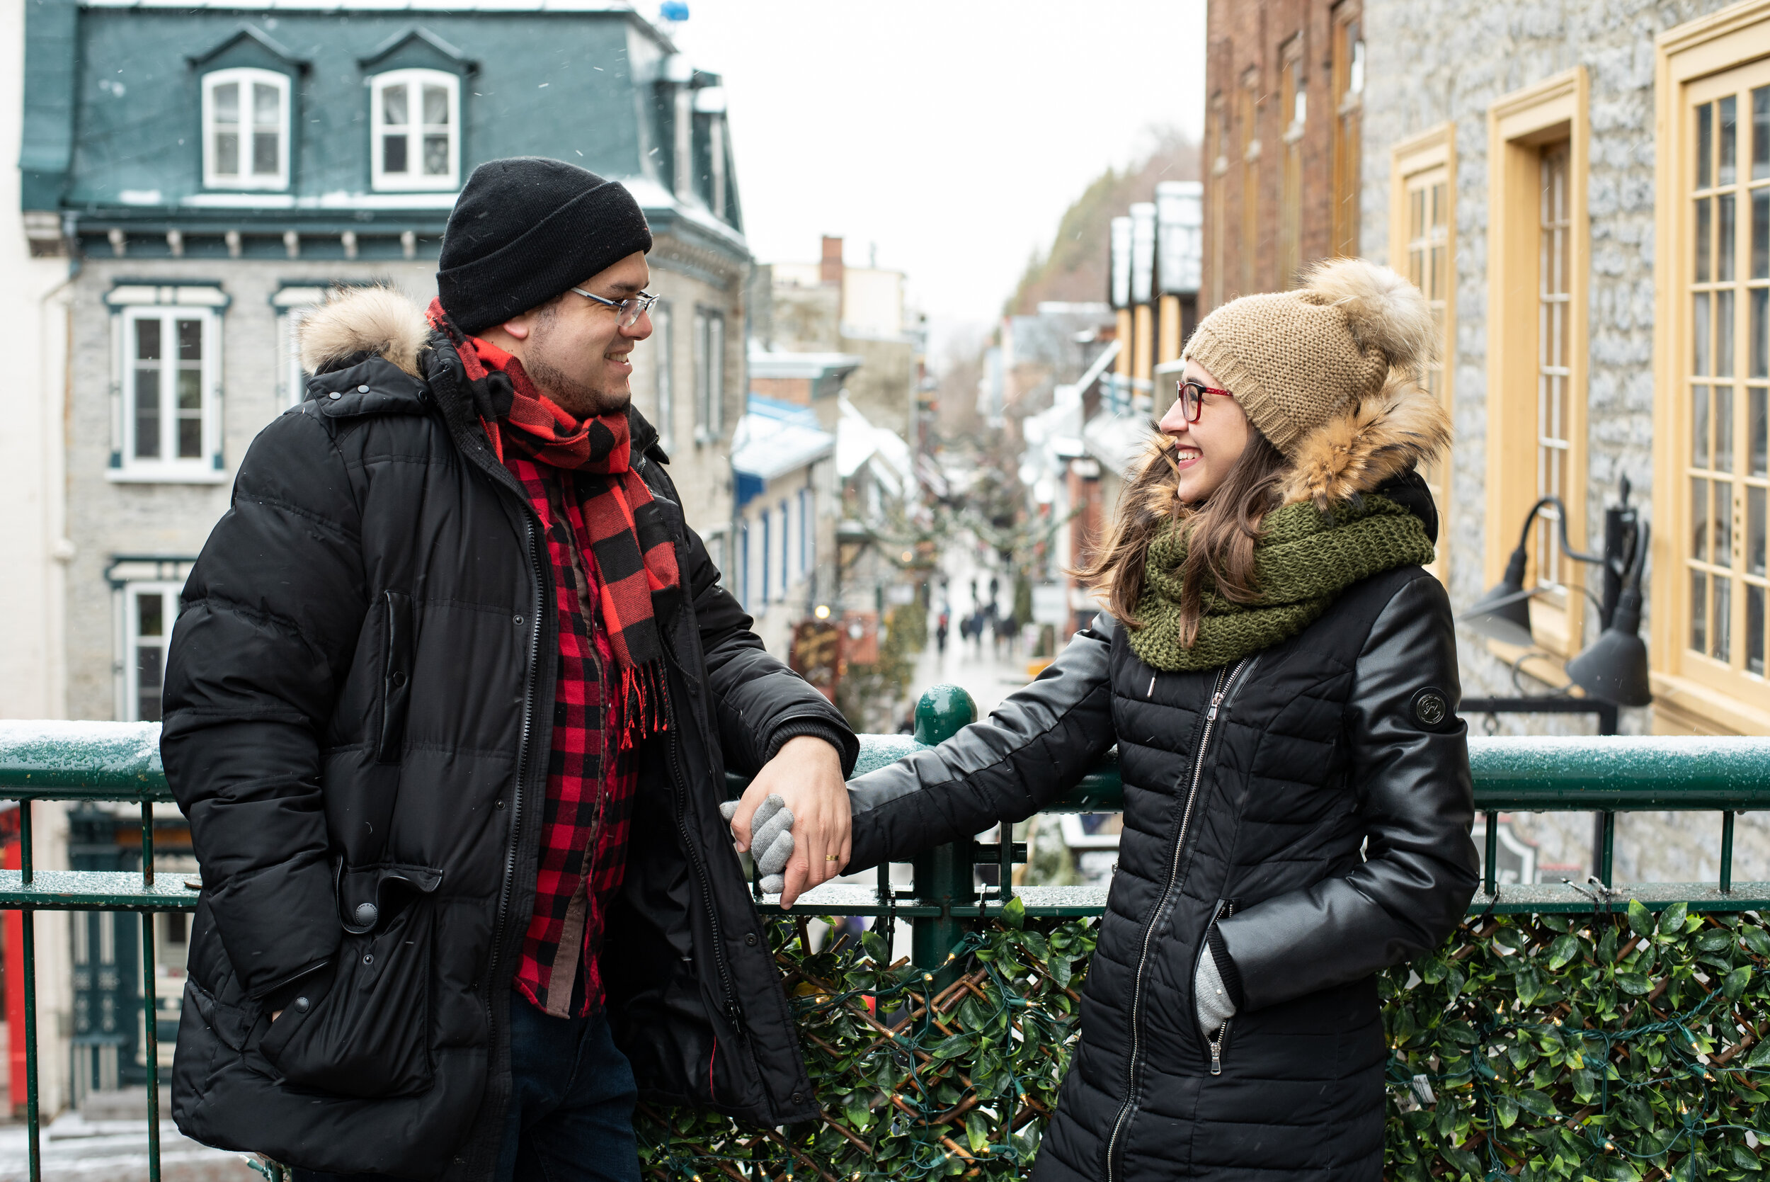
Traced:
POLYGON ((258 1044, 287 1083, 363 1097, 430 1086, 434 922, 430 901, 416 899, 381 931, 345 934, 331 987, 285 1009, 258 1044))

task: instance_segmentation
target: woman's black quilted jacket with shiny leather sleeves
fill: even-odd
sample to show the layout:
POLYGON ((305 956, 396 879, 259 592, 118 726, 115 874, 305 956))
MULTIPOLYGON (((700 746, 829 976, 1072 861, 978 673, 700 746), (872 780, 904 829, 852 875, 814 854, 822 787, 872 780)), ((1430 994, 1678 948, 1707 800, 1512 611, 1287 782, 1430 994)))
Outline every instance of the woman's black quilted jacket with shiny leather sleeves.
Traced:
MULTIPOLYGON (((1384 492, 1420 504, 1416 480, 1384 492)), ((1407 566, 1204 672, 1150 669, 1101 616, 988 722, 853 780, 862 869, 1027 817, 1119 745, 1119 869, 1037 1182, 1382 1177, 1374 973, 1478 881, 1457 701, 1450 602, 1407 566), (1221 1074, 1193 1005, 1212 918, 1243 989, 1221 1074)))

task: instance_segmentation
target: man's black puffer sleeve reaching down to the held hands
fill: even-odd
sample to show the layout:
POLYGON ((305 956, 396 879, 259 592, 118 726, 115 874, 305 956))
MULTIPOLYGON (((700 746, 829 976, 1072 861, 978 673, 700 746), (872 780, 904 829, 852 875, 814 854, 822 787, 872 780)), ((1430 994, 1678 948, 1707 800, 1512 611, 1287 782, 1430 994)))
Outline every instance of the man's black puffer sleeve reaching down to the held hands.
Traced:
POLYGON ((708 688, 726 766, 754 775, 781 745, 814 734, 843 756, 843 775, 855 770, 860 740, 823 694, 763 649, 750 618, 720 584, 719 568, 699 534, 689 531, 689 570, 683 577, 694 600, 706 655, 708 688))

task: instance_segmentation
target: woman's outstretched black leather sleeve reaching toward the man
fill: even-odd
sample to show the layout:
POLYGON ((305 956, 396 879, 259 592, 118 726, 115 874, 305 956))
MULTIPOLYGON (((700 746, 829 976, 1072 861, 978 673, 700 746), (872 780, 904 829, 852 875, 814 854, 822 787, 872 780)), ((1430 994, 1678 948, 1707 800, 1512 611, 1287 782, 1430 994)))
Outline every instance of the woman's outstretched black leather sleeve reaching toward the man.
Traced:
POLYGON ((1108 655, 1117 623, 1097 616, 1027 688, 940 747, 848 784, 848 871, 1021 821, 1073 787, 1113 745, 1108 655))

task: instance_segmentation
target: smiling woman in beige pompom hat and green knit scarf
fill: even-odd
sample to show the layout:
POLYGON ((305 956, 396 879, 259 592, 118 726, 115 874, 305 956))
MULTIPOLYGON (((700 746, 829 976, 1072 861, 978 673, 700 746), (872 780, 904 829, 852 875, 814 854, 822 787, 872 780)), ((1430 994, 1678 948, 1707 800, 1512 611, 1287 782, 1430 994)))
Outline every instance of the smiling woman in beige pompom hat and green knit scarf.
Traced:
POLYGON ((981 725, 866 775, 850 871, 1027 817, 1119 747, 1124 835, 1035 1182, 1377 1182, 1375 973, 1478 858, 1416 465, 1420 292, 1363 260, 1211 313, 1083 572, 1110 612, 981 725))

